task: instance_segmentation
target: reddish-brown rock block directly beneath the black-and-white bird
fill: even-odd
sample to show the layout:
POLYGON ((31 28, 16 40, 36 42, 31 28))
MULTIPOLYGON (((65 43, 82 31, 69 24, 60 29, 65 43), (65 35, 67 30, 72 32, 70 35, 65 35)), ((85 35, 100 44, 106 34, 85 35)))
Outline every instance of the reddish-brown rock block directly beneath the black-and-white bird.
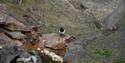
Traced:
POLYGON ((56 33, 43 34, 42 37, 44 38, 43 41, 45 41, 45 47, 62 57, 66 53, 67 44, 73 40, 72 36, 56 33))

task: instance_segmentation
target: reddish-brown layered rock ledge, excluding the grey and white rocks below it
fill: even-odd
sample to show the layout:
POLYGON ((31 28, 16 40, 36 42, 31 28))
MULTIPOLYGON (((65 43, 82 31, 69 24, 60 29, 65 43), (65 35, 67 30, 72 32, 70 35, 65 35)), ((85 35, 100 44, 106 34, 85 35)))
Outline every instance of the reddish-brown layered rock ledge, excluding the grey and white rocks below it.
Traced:
MULTIPOLYGON (((0 5, 0 47, 17 45, 25 51, 41 51, 47 49, 59 57, 64 57, 67 44, 74 37, 64 34, 41 34, 39 26, 25 26, 20 21, 6 14, 0 5)), ((63 60, 63 59, 62 59, 63 60)))

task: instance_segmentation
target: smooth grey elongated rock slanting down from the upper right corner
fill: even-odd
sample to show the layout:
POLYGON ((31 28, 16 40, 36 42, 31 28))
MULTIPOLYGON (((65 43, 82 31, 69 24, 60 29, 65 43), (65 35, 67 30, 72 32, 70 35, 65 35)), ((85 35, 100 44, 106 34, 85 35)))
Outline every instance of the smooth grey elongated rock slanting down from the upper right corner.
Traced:
POLYGON ((121 0, 118 7, 110 13, 103 21, 103 27, 109 30, 116 30, 120 19, 125 15, 125 1, 121 0))

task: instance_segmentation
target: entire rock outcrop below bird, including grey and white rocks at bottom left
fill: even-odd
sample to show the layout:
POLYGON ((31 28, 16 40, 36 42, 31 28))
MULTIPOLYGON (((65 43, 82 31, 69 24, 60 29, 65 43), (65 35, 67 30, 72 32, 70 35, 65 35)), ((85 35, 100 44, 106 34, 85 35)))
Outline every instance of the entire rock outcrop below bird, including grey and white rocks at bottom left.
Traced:
POLYGON ((55 63, 65 61, 67 44, 74 40, 73 36, 42 34, 39 27, 24 25, 6 14, 4 7, 1 4, 0 63, 46 63, 48 58, 55 63))

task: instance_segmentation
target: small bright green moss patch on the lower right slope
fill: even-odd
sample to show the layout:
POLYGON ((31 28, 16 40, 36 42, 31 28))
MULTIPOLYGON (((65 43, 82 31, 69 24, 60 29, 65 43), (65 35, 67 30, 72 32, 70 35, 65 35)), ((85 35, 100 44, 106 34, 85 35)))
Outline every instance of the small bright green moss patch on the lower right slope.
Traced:
POLYGON ((109 49, 97 49, 95 54, 103 57, 110 58, 112 56, 112 51, 109 49))

